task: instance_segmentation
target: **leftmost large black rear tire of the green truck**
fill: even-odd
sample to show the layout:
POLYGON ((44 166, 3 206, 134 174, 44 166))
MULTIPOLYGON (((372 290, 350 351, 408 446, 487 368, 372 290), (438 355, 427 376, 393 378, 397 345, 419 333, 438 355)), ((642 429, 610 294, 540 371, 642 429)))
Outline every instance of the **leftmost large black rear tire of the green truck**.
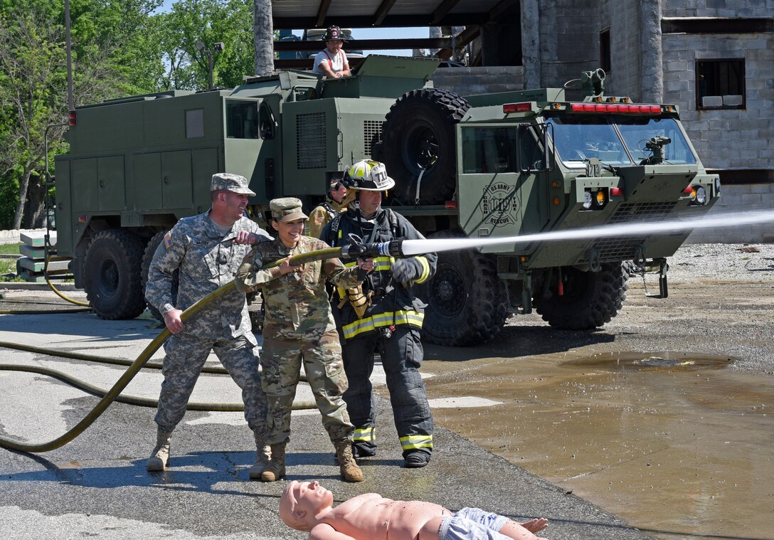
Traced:
POLYGON ((84 289, 102 319, 134 319, 145 310, 140 284, 143 248, 142 238, 129 231, 94 234, 86 252, 84 289))

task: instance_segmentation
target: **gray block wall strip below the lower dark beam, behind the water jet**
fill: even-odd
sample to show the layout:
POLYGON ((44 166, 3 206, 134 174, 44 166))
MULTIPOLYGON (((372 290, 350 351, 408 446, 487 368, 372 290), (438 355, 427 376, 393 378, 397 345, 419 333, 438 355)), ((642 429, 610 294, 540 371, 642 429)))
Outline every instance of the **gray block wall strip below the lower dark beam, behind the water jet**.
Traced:
MULTIPOLYGON (((739 184, 722 186, 721 198, 707 214, 770 211, 774 201, 774 184, 739 184)), ((774 224, 745 227, 694 229, 687 244, 762 244, 774 242, 774 224)))

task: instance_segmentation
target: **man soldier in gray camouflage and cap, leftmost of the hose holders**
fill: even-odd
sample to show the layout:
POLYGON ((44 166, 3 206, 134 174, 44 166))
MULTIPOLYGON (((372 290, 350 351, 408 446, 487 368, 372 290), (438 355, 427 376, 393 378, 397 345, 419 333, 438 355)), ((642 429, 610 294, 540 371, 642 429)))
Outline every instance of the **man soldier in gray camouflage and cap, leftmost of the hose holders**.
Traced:
POLYGON ((146 299, 162 313, 172 336, 164 343, 164 381, 155 419, 156 447, 146 463, 149 471, 166 468, 172 432, 183 419, 191 391, 211 350, 241 388, 245 419, 255 436, 258 453, 250 477, 260 478, 269 462, 265 443, 266 395, 245 294, 231 290, 185 323, 180 320, 183 310, 234 279, 248 254, 248 244, 271 239, 245 217, 248 195, 255 193, 244 176, 214 174, 210 210, 178 221, 153 255, 146 299), (176 300, 172 285, 175 271, 180 276, 176 300))

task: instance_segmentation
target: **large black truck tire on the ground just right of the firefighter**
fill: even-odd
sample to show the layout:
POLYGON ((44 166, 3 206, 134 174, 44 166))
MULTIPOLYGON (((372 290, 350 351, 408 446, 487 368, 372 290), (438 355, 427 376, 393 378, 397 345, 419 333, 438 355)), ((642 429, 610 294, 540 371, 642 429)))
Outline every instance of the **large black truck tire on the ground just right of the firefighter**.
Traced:
MULTIPOLYGON (((464 238, 460 231, 439 231, 430 238, 464 238)), ((495 337, 508 316, 505 283, 495 261, 472 249, 442 251, 430 282, 416 285, 428 302, 422 327, 428 343, 464 347, 495 337)))

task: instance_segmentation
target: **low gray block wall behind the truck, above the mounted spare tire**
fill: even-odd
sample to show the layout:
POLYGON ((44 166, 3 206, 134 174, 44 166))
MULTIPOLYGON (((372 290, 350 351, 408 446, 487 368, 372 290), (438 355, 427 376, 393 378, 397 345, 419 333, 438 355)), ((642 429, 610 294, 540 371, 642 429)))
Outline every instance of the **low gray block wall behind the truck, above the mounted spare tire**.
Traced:
POLYGON ((434 87, 447 88, 461 96, 524 89, 521 66, 439 67, 432 79, 434 87))

